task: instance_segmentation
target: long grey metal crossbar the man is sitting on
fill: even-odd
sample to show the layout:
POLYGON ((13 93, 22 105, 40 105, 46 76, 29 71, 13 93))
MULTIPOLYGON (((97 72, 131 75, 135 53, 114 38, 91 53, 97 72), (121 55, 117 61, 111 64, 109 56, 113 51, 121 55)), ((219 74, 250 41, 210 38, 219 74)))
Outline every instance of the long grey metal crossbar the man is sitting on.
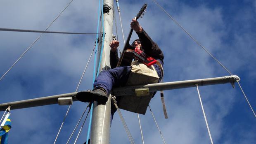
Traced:
MULTIPOLYGON (((207 86, 207 85, 214 85, 214 84, 225 84, 231 83, 232 85, 239 81, 240 78, 236 75, 232 76, 225 76, 225 77, 214 77, 209 79, 194 79, 194 80, 186 80, 186 81, 173 81, 173 82, 165 82, 159 84, 147 84, 147 85, 140 85, 140 86, 126 86, 121 88, 114 88, 114 95, 121 96, 121 95, 135 95, 136 88, 149 88, 149 92, 154 91, 164 91, 164 90, 172 90, 178 88, 189 88, 194 87, 196 84, 198 86, 207 86)), ((29 100, 21 100, 16 102, 7 102, 0 104, 0 111, 5 111, 8 106, 12 106, 12 109, 22 109, 27 107, 38 107, 43 105, 52 105, 58 103, 58 98, 62 97, 72 97, 73 101, 77 101, 76 99, 77 92, 74 93, 64 93, 61 95, 52 95, 47 97, 41 98, 34 98, 29 100)))

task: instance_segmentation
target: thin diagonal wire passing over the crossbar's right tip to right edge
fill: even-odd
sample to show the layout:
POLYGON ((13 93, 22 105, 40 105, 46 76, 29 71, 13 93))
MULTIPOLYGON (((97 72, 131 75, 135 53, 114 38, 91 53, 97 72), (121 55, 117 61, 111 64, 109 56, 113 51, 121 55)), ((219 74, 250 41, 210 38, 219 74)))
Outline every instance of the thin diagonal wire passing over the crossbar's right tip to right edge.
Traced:
MULTIPOLYGON (((160 9, 162 9, 185 33, 187 33, 187 35, 189 35, 193 40, 194 40, 194 42, 196 42, 199 46, 201 46, 201 48, 202 49, 204 49, 204 51, 206 51, 214 60, 216 60, 216 62, 218 63, 218 64, 220 64, 230 75, 233 75, 222 63, 220 63, 220 61, 218 61, 217 60, 217 58, 215 58, 204 46, 202 46, 194 37, 192 37, 192 35, 190 35, 190 33, 188 33, 187 32, 187 30, 185 30, 170 14, 168 14, 168 12, 166 12, 166 10, 163 8, 163 7, 161 7, 155 0, 153 0, 154 1, 154 3, 160 8, 160 9)), ((238 81, 237 81, 237 83, 238 83, 238 81)), ((239 83, 238 83, 239 84, 239 83)), ((241 91, 243 92, 243 90, 242 90, 242 87, 240 86, 240 84, 239 84, 239 87, 241 88, 241 91)), ((244 94, 244 92, 243 92, 243 94, 244 94)), ((248 103, 248 105, 251 107, 251 105, 250 105, 250 102, 249 102, 249 100, 247 99, 247 96, 244 94, 244 97, 246 98, 246 100, 247 100, 247 103, 248 103)), ((253 110, 253 108, 251 107, 251 110, 252 110, 252 112, 254 113, 254 116, 256 117, 256 115, 255 115, 255 112, 254 112, 254 110, 253 110)))

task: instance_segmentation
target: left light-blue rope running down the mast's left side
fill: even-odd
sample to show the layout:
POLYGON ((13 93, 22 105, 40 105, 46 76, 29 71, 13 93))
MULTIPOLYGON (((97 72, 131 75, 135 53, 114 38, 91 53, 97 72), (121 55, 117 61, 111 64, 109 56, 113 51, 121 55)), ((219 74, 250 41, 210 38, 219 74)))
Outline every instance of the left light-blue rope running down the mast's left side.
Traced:
MULTIPOLYGON (((103 7, 103 6, 102 6, 102 7, 103 7)), ((95 80, 96 53, 97 53, 97 48, 98 48, 99 25, 100 25, 100 0, 99 0, 99 8, 98 8, 98 24, 97 24, 97 35, 96 35, 96 50, 95 50, 95 54, 94 54, 93 82, 94 82, 94 80, 95 80)), ((93 82, 92 82, 92 84, 93 84, 93 82)), ((92 105, 91 105, 90 121, 89 121, 89 126, 88 126, 86 144, 88 144, 89 137, 90 137, 90 130, 91 130, 91 125, 92 125, 92 108, 93 108, 93 103, 92 103, 92 105)))

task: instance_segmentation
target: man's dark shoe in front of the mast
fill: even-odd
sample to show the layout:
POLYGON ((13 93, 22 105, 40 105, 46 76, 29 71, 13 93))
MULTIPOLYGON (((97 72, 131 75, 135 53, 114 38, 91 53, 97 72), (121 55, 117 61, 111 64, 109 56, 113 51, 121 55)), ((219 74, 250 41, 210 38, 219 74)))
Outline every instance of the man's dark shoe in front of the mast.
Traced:
POLYGON ((76 94, 77 100, 81 102, 97 101, 100 104, 104 104, 108 100, 107 93, 102 89, 95 89, 93 91, 81 91, 76 94))

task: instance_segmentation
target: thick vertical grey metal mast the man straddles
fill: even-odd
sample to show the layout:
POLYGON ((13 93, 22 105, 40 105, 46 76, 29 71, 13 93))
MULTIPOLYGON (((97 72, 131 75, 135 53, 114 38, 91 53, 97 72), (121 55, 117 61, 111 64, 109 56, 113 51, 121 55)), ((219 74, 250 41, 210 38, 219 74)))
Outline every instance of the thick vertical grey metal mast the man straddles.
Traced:
MULTIPOLYGON (((109 62, 109 53, 110 46, 109 42, 112 40, 112 27, 113 27, 113 19, 114 19, 114 6, 113 0, 104 0, 103 1, 103 25, 104 31, 102 28, 102 35, 104 34, 104 42, 99 44, 98 48, 98 58, 99 53, 103 51, 101 55, 101 61, 98 59, 98 63, 100 63, 99 72, 102 70, 110 69, 109 62)), ((100 42, 102 41, 102 37, 100 38, 100 42)), ((109 144, 109 129, 110 129, 110 106, 111 100, 109 98, 106 105, 98 105, 97 102, 94 102, 93 114, 92 114, 92 130, 90 143, 91 144, 109 144)))

